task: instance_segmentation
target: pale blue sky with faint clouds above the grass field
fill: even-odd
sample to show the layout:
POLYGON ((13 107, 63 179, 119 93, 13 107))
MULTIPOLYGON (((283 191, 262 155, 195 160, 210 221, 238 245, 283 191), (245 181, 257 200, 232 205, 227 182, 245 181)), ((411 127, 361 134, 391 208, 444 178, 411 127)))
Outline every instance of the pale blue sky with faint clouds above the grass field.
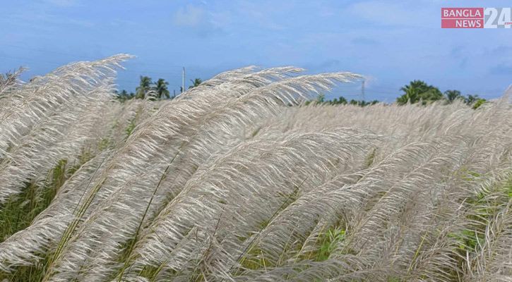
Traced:
MULTIPOLYGON (((442 7, 510 7, 510 1, 5 1, 0 73, 28 79, 71 61, 136 55, 119 73, 179 92, 191 78, 248 65, 368 75, 367 99, 393 101, 410 80, 441 91, 500 97, 512 83, 512 29, 441 29, 442 7)), ((326 94, 357 99, 361 85, 326 94)))

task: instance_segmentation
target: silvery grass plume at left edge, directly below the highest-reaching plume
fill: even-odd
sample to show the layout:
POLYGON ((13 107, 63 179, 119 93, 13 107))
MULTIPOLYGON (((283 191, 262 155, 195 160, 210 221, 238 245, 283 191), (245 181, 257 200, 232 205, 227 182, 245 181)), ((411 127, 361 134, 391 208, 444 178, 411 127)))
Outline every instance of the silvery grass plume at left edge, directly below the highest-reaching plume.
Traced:
MULTIPOLYGON (((102 95, 105 94, 103 91, 100 89, 102 95)), ((89 92, 88 96, 94 97, 95 93, 89 92)), ((78 157, 85 140, 93 137, 84 133, 91 134, 101 128, 98 126, 101 115, 96 111, 101 112, 108 96, 105 98, 102 102, 82 101, 85 108, 77 106, 78 109, 73 111, 64 110, 42 118, 30 133, 18 140, 19 145, 11 146, 7 157, 1 162, 1 189, 16 190, 25 181, 37 182, 37 178, 44 177, 46 171, 60 159, 72 162, 78 157)))

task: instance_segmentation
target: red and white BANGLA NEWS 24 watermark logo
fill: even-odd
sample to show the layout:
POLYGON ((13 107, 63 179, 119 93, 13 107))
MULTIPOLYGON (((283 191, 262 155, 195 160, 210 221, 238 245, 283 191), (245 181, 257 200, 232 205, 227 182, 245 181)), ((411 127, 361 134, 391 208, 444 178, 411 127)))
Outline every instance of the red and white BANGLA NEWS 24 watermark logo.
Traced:
POLYGON ((512 8, 441 8, 441 28, 512 28, 512 8))

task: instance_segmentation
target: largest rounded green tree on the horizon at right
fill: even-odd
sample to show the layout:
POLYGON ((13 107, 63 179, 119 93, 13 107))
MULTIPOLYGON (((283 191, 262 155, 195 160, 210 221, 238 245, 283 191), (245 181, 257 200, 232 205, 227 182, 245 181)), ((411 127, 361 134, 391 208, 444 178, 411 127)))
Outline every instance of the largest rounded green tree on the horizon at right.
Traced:
POLYGON ((415 104, 419 101, 422 101, 422 104, 427 104, 443 99, 443 93, 437 87, 428 85, 422 80, 411 81, 409 85, 400 88, 400 91, 404 92, 401 97, 396 99, 400 105, 407 104, 407 102, 415 104))

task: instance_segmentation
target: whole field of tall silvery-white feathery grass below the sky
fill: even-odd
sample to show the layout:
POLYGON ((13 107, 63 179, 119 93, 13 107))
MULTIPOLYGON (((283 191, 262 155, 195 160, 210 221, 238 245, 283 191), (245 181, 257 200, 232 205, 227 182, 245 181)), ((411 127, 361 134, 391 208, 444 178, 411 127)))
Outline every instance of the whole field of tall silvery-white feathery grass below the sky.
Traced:
POLYGON ((512 281, 510 93, 306 106, 362 76, 247 67, 121 103, 129 58, 0 81, 0 281, 512 281))

